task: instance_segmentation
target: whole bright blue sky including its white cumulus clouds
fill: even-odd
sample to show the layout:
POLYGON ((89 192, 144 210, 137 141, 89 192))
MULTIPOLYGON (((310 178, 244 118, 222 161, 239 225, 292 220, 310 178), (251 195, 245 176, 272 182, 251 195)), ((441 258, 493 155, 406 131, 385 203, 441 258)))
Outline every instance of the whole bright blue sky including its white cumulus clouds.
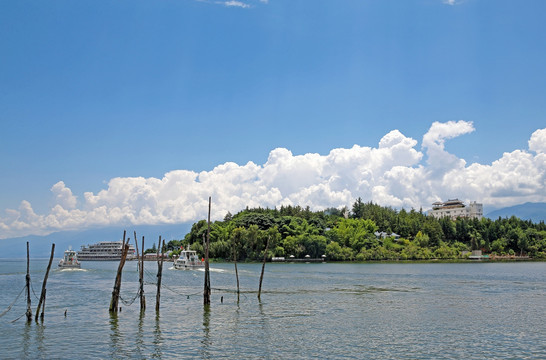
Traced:
POLYGON ((358 196, 545 201, 545 13, 502 0, 0 0, 0 238, 101 214, 197 220, 207 193, 217 217, 358 196), (375 151, 382 139, 404 151, 375 151), (337 167, 334 149, 353 160, 337 167), (173 190, 179 170, 194 178, 173 190))

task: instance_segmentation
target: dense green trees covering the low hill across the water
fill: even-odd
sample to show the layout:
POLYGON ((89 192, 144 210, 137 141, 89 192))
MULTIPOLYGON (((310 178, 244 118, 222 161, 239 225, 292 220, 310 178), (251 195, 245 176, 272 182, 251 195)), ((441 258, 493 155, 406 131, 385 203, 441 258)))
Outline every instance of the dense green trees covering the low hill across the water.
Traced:
MULTIPOLYGON (((183 240, 167 247, 175 254, 191 246, 203 254, 207 222, 198 221, 183 240)), ((269 239, 268 257, 293 255, 329 260, 426 260, 464 258, 481 249, 494 255, 528 255, 546 258, 546 225, 515 216, 436 219, 421 210, 395 210, 365 203, 360 198, 352 209, 330 208, 310 211, 309 207, 282 206, 280 209, 245 209, 228 213, 211 224, 210 257, 239 261, 259 260, 269 239), (376 236, 376 232, 400 237, 376 236)))

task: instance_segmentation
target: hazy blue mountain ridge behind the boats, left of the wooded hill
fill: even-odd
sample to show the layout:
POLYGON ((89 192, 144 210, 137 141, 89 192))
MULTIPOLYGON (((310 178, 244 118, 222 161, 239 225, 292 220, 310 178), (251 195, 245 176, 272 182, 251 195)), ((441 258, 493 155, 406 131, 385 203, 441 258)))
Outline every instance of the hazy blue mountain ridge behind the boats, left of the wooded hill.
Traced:
MULTIPOLYGON (((144 247, 151 248, 152 244, 157 244, 159 236, 169 240, 183 239, 190 231, 192 223, 177 225, 154 225, 154 226, 134 226, 127 227, 127 237, 131 238, 134 244, 133 232, 136 231, 139 239, 138 245, 142 243, 144 236, 144 247)), ((0 258, 25 258, 27 256, 26 242, 29 242, 31 258, 49 258, 51 254, 51 244, 55 243, 55 259, 60 259, 63 252, 69 246, 74 250, 79 250, 82 245, 94 244, 99 241, 119 241, 123 238, 123 228, 103 228, 85 231, 62 231, 47 236, 24 236, 20 238, 0 240, 0 258)))

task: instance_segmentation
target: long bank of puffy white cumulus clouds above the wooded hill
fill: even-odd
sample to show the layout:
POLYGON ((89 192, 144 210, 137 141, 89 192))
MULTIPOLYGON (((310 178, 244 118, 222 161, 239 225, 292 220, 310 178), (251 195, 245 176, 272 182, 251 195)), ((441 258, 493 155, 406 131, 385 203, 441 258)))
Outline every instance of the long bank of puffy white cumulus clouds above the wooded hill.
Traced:
POLYGON ((212 218, 245 207, 351 206, 357 197, 397 208, 427 209, 458 197, 486 206, 546 201, 546 129, 535 131, 529 149, 514 150, 491 164, 467 165, 445 142, 474 131, 467 121, 435 122, 418 141, 393 130, 375 147, 354 145, 327 155, 294 155, 273 149, 264 164, 233 162, 210 171, 173 170, 162 178, 113 178, 81 200, 63 181, 52 186, 55 206, 36 214, 29 202, 0 217, 2 238, 44 235, 109 225, 175 224, 212 218))

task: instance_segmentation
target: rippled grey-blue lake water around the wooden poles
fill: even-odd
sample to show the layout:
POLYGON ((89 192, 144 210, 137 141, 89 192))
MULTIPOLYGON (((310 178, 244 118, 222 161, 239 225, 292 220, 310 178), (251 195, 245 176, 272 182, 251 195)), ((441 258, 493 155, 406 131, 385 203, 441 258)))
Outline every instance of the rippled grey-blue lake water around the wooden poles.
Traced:
MULTIPOLYGON (((54 266, 56 266, 55 261, 54 266)), ((204 272, 165 263, 155 313, 157 265, 145 263, 139 301, 108 312, 116 262, 54 269, 43 323, 26 322, 24 295, 0 317, 2 359, 546 359, 546 263, 211 264, 204 272), (223 297, 223 302, 221 298, 223 297), (66 316, 64 315, 66 311, 66 316)), ((46 260, 31 260, 36 295, 46 260)), ((122 297, 138 288, 125 266, 122 297)), ((26 260, 0 262, 0 312, 25 285, 26 260)), ((37 298, 32 295, 32 310, 37 298)))

